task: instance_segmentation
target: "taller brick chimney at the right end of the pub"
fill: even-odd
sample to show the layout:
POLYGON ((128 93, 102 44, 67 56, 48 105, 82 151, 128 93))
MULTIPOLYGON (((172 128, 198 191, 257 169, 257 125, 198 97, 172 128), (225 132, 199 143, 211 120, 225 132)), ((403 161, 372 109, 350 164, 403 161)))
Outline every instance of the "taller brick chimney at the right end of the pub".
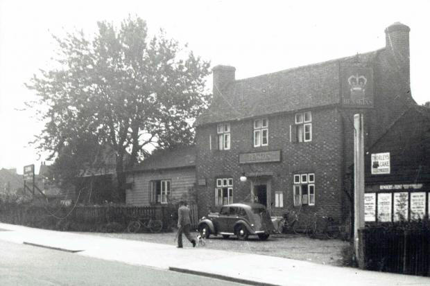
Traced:
POLYGON ((410 83, 409 67, 409 31, 411 29, 400 23, 395 22, 385 29, 386 51, 394 57, 394 64, 399 67, 399 72, 405 75, 410 83))

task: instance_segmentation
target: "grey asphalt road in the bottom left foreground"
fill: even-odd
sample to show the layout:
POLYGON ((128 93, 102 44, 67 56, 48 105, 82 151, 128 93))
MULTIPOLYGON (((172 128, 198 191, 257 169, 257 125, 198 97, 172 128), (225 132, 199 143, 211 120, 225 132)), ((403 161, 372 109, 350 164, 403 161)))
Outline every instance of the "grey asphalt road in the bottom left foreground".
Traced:
POLYGON ((0 285, 243 285, 0 240, 0 285))

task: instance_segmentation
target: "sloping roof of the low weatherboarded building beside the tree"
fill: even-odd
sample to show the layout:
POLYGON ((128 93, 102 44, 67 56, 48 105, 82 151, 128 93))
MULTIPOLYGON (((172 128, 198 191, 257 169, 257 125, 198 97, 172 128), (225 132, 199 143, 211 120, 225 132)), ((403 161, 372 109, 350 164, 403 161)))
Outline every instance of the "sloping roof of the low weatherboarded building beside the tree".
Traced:
POLYGON ((144 159, 132 171, 161 170, 196 166, 196 146, 180 146, 174 149, 157 150, 144 159))

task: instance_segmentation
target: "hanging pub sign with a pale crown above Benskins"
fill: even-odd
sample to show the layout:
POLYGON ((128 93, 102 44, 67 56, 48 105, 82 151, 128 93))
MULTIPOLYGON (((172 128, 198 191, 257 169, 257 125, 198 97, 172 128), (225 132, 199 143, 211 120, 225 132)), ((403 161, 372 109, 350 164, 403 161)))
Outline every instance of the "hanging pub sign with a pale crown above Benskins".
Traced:
POLYGON ((366 66, 341 68, 342 103, 351 107, 373 106, 373 70, 366 66))

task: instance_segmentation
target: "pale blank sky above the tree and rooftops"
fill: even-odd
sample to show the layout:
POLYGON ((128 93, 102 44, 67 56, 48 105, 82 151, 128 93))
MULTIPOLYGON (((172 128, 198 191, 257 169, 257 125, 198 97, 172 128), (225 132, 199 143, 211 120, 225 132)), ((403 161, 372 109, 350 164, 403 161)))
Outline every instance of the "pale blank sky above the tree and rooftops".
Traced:
POLYGON ((137 15, 150 33, 163 28, 212 66, 236 67, 241 79, 375 51, 385 46, 384 29, 400 21, 411 28, 411 92, 423 104, 430 101, 429 11, 430 0, 0 0, 0 169, 22 173, 34 163, 37 172, 46 160, 28 144, 43 125, 22 109, 35 99, 24 83, 51 66, 52 35, 83 30, 91 37, 97 21, 137 15))

